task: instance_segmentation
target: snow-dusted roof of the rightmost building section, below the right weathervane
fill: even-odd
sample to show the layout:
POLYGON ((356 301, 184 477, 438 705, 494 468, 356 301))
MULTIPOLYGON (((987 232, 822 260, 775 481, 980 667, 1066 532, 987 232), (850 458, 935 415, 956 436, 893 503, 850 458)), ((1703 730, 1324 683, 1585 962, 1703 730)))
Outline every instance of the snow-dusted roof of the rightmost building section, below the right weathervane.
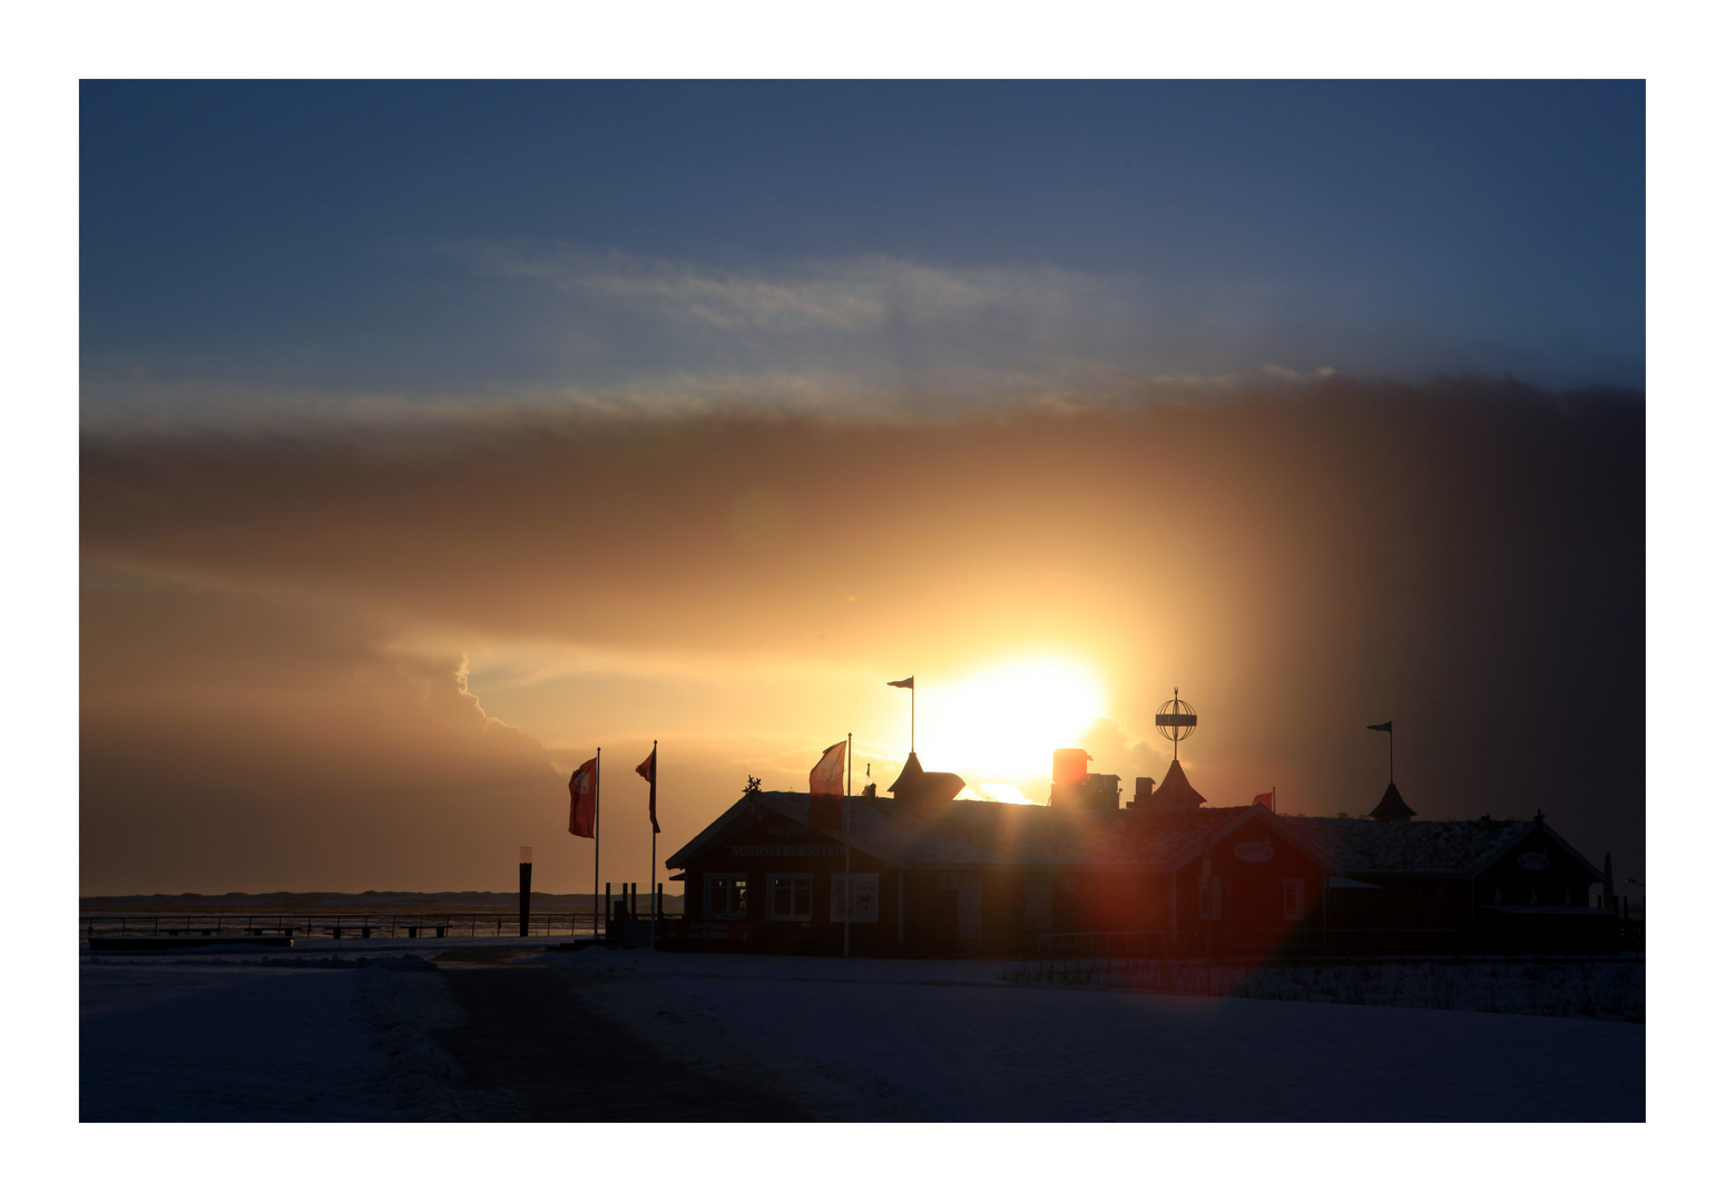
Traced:
POLYGON ((1556 847, 1604 880, 1587 859, 1542 823, 1373 823, 1363 817, 1282 814, 1283 828, 1323 852, 1335 871, 1478 876, 1540 830, 1556 847))

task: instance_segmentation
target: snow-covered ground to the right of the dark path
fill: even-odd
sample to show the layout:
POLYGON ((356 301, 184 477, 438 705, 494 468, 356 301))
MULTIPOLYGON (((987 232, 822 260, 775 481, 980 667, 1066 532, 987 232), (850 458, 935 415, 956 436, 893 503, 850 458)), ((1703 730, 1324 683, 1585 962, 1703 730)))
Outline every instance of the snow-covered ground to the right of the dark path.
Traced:
POLYGON ((559 959, 621 971, 637 1014, 702 1016, 876 1117, 1646 1117, 1646 1028, 1627 1023, 1032 988, 990 962, 559 959))

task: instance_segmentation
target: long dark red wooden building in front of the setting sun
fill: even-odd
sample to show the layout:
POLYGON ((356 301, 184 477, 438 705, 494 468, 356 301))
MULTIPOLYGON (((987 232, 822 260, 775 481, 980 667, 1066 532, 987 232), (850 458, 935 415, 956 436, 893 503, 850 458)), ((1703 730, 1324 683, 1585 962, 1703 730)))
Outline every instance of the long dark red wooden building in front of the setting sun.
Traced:
MULTIPOLYGON (((933 776, 933 774, 930 774, 933 776)), ((956 779, 956 778, 954 778, 956 779)), ((952 790, 956 792, 956 790, 952 790)), ((668 945, 790 954, 1033 950, 1132 931, 1156 955, 1594 947, 1603 874, 1544 821, 1316 819, 1211 807, 1178 764, 1128 809, 743 795, 666 861, 685 886, 668 945), (1161 802, 1157 802, 1161 798, 1161 802), (1580 943, 1578 943, 1580 940, 1580 943)))

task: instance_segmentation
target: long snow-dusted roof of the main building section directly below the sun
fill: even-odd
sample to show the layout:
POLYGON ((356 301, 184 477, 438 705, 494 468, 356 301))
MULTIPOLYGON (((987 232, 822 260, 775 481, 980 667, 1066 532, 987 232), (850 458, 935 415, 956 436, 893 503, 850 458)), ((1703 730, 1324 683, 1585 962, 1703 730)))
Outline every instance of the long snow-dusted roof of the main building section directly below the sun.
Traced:
MULTIPOLYGON (((778 814, 809 821, 807 793, 754 793, 731 805, 693 842, 666 861, 685 867, 730 831, 778 814), (752 804, 756 809, 745 809, 752 804)), ((947 802, 916 805, 897 798, 850 798, 850 845, 894 867, 1142 867, 1171 871, 1245 823, 1268 823, 1320 864, 1323 854, 1263 805, 1171 812, 1113 811, 1102 814, 1059 811, 1047 805, 1000 802, 947 802)), ((842 840, 840 833, 819 831, 842 840)))

